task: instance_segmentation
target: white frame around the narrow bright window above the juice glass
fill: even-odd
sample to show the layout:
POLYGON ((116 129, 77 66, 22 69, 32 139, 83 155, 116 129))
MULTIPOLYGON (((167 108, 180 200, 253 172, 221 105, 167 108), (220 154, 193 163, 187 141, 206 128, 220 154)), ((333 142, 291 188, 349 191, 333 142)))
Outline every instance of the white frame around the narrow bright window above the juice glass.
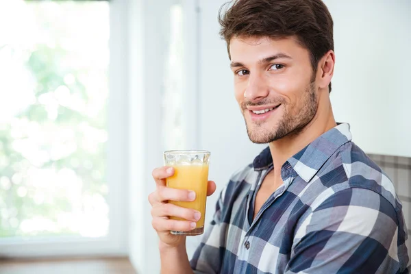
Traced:
POLYGON ((129 0, 129 259, 138 273, 160 273, 158 236, 151 227, 155 190, 151 171, 163 165, 164 132, 159 110, 164 90, 169 8, 181 3, 184 23, 184 134, 199 145, 199 1, 129 0), (165 2, 165 3, 164 3, 165 2), (161 18, 161 20, 159 19, 161 18), (143 58, 141 58, 143 56, 143 58), (147 114, 148 113, 148 114, 147 114))

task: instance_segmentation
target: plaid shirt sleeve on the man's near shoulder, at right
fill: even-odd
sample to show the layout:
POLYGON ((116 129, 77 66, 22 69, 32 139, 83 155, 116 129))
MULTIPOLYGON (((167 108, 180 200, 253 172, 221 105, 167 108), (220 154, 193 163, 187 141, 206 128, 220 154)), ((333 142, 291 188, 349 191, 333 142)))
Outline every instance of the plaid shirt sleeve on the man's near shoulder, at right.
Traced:
POLYGON ((408 273, 401 208, 363 188, 318 204, 297 227, 287 274, 408 273))

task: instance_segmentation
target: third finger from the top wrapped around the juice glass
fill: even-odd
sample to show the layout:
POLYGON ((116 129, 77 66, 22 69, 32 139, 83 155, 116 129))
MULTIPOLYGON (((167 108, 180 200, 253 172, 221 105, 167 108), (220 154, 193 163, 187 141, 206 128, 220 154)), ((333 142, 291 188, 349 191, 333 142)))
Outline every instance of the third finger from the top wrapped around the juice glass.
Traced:
POLYGON ((197 210, 182 208, 171 203, 164 203, 151 208, 151 216, 153 216, 153 218, 173 216, 186 219, 188 221, 197 222, 201 218, 201 213, 197 210))

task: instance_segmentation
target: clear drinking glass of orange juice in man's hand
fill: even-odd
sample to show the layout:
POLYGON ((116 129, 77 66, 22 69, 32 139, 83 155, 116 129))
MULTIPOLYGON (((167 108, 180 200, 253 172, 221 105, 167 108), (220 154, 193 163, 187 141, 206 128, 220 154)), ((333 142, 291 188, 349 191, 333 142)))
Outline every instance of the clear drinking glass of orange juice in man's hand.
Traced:
MULTIPOLYGON (((209 151, 165 151, 164 164, 174 168, 174 175, 166 179, 167 187, 192 190, 195 192, 195 201, 169 201, 182 208, 192 208, 201 212, 201 219, 190 232, 171 231, 171 234, 195 236, 204 232, 204 215, 206 214, 206 199, 208 186, 209 151)), ((171 217, 175 220, 184 220, 171 217)))

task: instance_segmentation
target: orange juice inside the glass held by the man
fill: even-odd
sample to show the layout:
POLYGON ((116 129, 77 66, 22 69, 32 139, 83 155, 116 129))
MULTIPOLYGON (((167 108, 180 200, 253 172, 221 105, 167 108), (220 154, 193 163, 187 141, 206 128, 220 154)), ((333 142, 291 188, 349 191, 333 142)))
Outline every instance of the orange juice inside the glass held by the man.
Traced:
MULTIPOLYGON (((196 228, 203 227, 204 215, 206 214, 208 164, 175 164, 170 166, 174 168, 174 175, 166 179, 167 186, 194 191, 195 201, 169 201, 169 203, 201 212, 201 219, 197 221, 196 228)), ((171 219, 183 220, 176 217, 171 219)))

